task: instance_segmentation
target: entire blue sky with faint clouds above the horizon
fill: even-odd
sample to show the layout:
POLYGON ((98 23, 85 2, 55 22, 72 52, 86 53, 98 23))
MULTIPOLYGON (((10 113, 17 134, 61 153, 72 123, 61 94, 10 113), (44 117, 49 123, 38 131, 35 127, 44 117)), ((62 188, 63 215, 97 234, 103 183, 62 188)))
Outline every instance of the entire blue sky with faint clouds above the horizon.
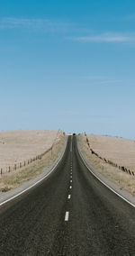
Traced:
POLYGON ((0 130, 135 138, 135 1, 3 0, 0 130))

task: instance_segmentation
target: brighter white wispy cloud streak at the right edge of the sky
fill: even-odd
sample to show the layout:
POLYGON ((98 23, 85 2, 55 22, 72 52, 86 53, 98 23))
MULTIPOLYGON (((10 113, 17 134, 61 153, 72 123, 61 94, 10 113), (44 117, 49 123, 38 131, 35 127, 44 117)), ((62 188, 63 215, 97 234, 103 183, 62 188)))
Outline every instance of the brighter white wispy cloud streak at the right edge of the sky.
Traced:
POLYGON ((102 33, 90 36, 74 37, 73 41, 82 42, 129 42, 135 41, 135 34, 121 34, 121 33, 102 33))

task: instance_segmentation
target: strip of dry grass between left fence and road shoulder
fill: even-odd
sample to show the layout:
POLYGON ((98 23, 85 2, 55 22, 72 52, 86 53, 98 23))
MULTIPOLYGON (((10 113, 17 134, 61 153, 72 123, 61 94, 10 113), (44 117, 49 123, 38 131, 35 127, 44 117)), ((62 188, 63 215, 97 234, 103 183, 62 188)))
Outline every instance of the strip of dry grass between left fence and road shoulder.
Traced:
POLYGON ((44 168, 53 164, 58 158, 58 153, 64 147, 66 137, 61 135, 58 142, 53 145, 52 151, 47 152, 41 160, 32 162, 29 167, 16 169, 10 173, 5 173, 0 177, 0 191, 6 192, 13 188, 19 187, 24 181, 30 180, 39 175, 44 168))

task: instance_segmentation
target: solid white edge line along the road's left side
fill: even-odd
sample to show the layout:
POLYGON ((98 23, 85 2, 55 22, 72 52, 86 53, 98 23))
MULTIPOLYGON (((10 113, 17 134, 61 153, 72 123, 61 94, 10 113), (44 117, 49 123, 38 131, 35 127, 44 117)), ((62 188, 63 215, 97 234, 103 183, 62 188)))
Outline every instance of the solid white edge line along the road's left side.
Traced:
MULTIPOLYGON (((65 148, 65 150, 66 150, 66 148, 65 148)), ((65 151, 64 151, 64 153, 65 153, 65 151)), ((14 197, 10 197, 10 198, 8 198, 7 200, 5 200, 4 202, 0 203, 0 206, 3 206, 3 205, 6 204, 7 202, 12 201, 14 198, 21 196, 24 192, 26 192, 26 191, 28 191, 29 189, 31 189, 31 187, 35 187, 38 183, 40 183, 40 181, 42 181, 43 179, 47 178, 47 177, 49 176, 49 174, 50 174, 54 169, 57 168, 58 163, 60 162, 60 160, 62 160, 64 153, 61 155, 61 157, 60 157, 60 159, 58 160, 57 164, 49 171, 48 174, 46 174, 43 178, 40 178, 40 180, 36 181, 36 182, 35 182, 34 184, 32 184, 30 187, 27 187, 27 188, 24 189, 22 192, 20 192, 20 193, 18 193, 17 195, 15 195, 14 197)))

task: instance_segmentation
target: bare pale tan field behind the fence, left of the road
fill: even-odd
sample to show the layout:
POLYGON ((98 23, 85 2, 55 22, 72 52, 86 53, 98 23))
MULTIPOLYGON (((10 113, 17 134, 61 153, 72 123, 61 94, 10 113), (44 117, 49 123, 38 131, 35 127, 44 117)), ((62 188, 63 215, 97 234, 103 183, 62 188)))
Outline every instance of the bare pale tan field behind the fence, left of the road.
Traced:
POLYGON ((0 132, 0 169, 6 171, 9 166, 17 166, 47 151, 61 133, 48 130, 0 132))

